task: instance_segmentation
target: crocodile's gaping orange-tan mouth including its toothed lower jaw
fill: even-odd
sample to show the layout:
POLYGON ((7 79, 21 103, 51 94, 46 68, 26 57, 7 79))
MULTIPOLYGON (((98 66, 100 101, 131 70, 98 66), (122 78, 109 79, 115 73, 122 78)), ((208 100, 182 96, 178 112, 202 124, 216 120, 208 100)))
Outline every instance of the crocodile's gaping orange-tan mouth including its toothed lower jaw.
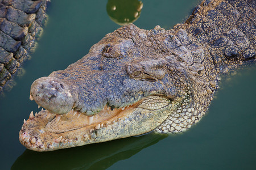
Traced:
MULTIPOLYGON (((101 112, 94 116, 86 116, 83 113, 73 111, 73 109, 63 115, 50 113, 45 109, 35 113, 35 116, 31 112, 28 120, 24 120, 19 133, 19 140, 30 150, 51 151, 59 148, 104 142, 99 139, 98 135, 101 135, 101 138, 105 138, 105 141, 130 136, 129 134, 119 137, 118 133, 113 132, 115 129, 121 129, 124 133, 128 133, 130 131, 129 128, 132 128, 132 131, 135 131, 132 135, 138 135, 134 129, 143 128, 143 125, 138 123, 136 126, 139 128, 135 128, 131 122, 134 121, 137 124, 140 117, 143 117, 143 115, 140 115, 142 113, 139 110, 147 108, 148 102, 154 100, 153 98, 164 99, 166 101, 163 105, 164 107, 170 104, 170 100, 165 97, 150 96, 148 99, 146 97, 123 108, 112 108, 106 105, 101 112), (112 135, 114 137, 109 138, 112 135)), ((154 109, 158 109, 158 107, 154 107, 154 109)), ((148 131, 151 130, 153 129, 148 131)), ((148 131, 144 131, 144 133, 148 131)))

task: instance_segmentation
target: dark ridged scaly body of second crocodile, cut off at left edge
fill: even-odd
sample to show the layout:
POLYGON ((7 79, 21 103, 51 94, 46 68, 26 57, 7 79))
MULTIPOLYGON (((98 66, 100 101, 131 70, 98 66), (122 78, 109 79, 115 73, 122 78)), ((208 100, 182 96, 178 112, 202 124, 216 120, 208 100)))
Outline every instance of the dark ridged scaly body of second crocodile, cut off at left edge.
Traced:
POLYGON ((33 52, 49 0, 0 0, 0 94, 33 52))

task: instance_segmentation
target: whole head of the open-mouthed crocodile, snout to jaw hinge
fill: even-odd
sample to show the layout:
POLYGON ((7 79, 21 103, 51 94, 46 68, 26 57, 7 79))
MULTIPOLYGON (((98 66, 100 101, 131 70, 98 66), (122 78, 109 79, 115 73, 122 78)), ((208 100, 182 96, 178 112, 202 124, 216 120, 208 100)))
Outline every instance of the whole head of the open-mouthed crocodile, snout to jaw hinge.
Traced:
POLYGON ((130 24, 106 35, 82 59, 32 83, 43 107, 19 133, 30 150, 105 142, 154 130, 191 98, 171 31, 130 24))

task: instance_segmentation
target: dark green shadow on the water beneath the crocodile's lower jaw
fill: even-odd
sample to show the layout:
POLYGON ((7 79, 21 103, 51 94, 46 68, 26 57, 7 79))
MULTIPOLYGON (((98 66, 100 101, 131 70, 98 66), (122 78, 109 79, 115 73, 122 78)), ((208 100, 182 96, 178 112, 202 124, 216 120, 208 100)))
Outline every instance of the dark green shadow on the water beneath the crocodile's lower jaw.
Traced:
POLYGON ((51 152, 26 150, 16 159, 11 169, 106 169, 166 137, 150 133, 51 152))

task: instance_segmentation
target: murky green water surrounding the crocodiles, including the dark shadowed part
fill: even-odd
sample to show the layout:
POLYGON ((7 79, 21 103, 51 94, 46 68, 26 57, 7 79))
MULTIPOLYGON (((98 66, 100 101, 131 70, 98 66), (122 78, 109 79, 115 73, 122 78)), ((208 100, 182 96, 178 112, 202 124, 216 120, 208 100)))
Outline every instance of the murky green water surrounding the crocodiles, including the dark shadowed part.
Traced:
MULTIPOLYGON (((171 28, 198 3, 142 1, 140 28, 171 28)), ((38 111, 29 100, 31 83, 65 69, 119 25, 106 12, 107 1, 52 1, 49 20, 26 73, 0 99, 0 169, 255 169, 256 69, 222 81, 209 112, 183 134, 154 134, 46 153, 26 150, 18 140, 23 118, 38 111), (74 3, 76 2, 76 3, 74 3)))

